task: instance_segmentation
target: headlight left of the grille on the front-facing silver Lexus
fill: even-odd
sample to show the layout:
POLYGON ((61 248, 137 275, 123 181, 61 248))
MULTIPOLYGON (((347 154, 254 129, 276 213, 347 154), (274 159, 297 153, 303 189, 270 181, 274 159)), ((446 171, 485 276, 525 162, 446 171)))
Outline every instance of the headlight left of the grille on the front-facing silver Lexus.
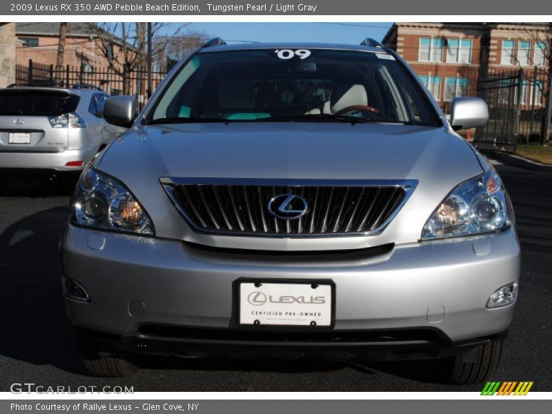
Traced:
POLYGON ((81 226, 154 235, 146 211, 121 182, 88 167, 71 203, 71 221, 81 226))

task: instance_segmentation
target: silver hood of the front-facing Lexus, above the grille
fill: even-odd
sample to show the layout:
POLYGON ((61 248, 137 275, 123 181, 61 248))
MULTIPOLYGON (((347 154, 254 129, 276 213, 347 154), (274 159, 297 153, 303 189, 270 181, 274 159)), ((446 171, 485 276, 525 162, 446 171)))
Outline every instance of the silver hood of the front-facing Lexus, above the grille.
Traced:
MULTIPOLYGON (((96 167, 123 181, 167 237, 174 226, 162 217, 175 208, 157 201, 168 199, 161 177, 416 180, 400 216, 423 226, 454 186, 483 172, 473 148, 445 127, 326 122, 139 126, 113 142, 96 167)), ((420 231, 404 230, 400 239, 420 231)))

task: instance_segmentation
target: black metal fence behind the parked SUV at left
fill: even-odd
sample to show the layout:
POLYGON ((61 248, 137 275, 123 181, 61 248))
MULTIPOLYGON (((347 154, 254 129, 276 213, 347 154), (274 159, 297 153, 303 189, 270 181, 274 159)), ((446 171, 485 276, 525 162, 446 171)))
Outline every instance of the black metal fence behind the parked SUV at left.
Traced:
MULTIPOLYGON (((152 89, 164 79, 166 68, 152 71, 152 89)), ((122 95, 125 83, 128 84, 128 93, 142 101, 147 95, 148 73, 144 70, 117 71, 112 68, 95 68, 83 64, 79 66, 63 66, 63 70, 56 73, 55 65, 36 63, 29 60, 28 66, 16 65, 15 83, 17 85, 62 86, 71 87, 75 83, 88 83, 97 86, 111 95, 122 95)))

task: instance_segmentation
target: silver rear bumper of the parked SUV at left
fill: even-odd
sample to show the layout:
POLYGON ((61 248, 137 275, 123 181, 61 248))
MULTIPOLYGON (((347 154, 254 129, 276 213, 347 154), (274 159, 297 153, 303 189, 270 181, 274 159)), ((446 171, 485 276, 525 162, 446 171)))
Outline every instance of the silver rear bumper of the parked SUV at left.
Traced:
POLYGON ((97 148, 84 147, 77 150, 60 152, 2 151, 0 152, 0 173, 18 175, 23 172, 30 175, 33 171, 40 174, 44 170, 52 172, 82 171, 97 153, 97 148), (70 161, 83 161, 79 167, 67 167, 70 161))

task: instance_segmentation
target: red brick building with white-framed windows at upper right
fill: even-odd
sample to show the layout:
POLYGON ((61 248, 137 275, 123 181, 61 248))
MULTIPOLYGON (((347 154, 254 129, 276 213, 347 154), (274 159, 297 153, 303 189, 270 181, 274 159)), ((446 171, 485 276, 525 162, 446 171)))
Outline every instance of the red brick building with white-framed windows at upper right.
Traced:
MULTIPOLYGON (((453 97, 476 96, 489 71, 546 72, 550 28, 524 23, 395 23, 383 43, 402 55, 448 110, 453 97), (542 36, 540 34, 543 34, 542 36)), ((542 81, 523 81, 522 105, 542 104, 542 81)))

